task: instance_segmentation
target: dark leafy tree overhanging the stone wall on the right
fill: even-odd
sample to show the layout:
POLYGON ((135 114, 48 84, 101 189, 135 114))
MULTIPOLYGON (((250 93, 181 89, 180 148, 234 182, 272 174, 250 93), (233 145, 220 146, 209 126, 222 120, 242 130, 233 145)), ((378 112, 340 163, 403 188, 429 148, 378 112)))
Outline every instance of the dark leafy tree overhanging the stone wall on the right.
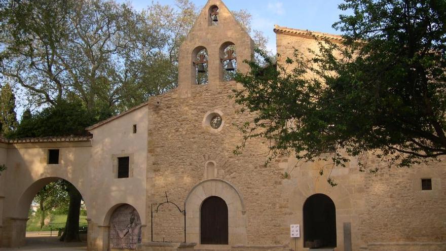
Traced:
POLYGON ((244 138, 334 165, 366 153, 397 166, 446 155, 446 2, 345 0, 339 8, 352 13, 334 24, 343 44, 319 41, 313 58, 296 51, 277 68, 250 62, 236 77, 244 86, 236 101, 256 114, 241 125, 244 138))

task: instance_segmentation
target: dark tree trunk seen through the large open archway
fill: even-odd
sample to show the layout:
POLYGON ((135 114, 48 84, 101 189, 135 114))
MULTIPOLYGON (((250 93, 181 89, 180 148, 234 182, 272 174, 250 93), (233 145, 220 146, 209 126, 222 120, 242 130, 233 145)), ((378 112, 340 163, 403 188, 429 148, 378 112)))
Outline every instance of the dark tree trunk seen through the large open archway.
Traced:
POLYGON ((75 188, 75 186, 71 184, 67 185, 67 189, 70 202, 68 206, 68 216, 66 218, 65 230, 60 237, 60 241, 81 241, 81 238, 79 237, 79 214, 81 211, 82 195, 75 188))

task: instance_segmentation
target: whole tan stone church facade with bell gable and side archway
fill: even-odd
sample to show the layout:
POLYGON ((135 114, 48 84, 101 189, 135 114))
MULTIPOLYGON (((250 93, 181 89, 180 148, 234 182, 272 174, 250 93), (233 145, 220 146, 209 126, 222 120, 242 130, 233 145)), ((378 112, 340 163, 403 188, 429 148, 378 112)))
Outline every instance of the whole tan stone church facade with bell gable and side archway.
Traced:
MULTIPOLYGON (((278 63, 316 48, 314 36, 276 26, 278 63)), ((446 250, 446 166, 431 163, 359 171, 280 157, 265 165, 268 142, 242 134, 225 81, 242 72, 253 41, 220 0, 209 0, 180 48, 179 86, 87 128, 92 137, 0 139, 1 246, 25 244, 35 194, 63 178, 84 197, 89 250, 446 250), (229 57, 228 49, 234 50, 229 57), (200 57, 200 55, 205 55, 200 57), (231 59, 231 60, 225 60, 231 59), (197 85, 205 65, 207 83, 197 85), (56 151, 55 151, 56 150, 56 151), (57 153, 57 155, 55 155, 57 153), (56 157, 55 157, 56 156, 56 157), (284 173, 289 173, 289 176, 284 173), (300 237, 290 237, 299 225, 300 237)))

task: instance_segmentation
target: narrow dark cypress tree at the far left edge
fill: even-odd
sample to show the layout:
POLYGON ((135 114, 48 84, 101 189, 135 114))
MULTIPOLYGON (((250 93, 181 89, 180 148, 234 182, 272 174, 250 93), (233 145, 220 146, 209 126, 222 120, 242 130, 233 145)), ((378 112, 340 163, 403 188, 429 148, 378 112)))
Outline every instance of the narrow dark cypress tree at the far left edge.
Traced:
POLYGON ((16 98, 11 86, 6 84, 0 93, 0 129, 5 136, 10 135, 17 128, 16 98))

